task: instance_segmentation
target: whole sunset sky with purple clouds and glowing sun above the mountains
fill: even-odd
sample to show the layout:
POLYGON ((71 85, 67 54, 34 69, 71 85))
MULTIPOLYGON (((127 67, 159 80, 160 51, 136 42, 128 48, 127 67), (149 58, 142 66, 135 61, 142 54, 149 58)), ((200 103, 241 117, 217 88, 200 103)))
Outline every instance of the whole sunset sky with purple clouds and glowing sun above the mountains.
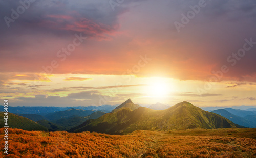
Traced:
POLYGON ((256 106, 254 0, 0 0, 0 17, 10 106, 256 106))

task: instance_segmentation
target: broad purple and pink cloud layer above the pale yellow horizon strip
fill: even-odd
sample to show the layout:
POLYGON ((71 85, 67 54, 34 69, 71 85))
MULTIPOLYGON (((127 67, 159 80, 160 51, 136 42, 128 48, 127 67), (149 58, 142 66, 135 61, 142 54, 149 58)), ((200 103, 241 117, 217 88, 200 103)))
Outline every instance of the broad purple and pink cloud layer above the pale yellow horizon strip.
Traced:
POLYGON ((55 60, 51 73, 121 75, 146 52, 153 60, 138 76, 253 81, 256 2, 205 4, 178 32, 174 22, 182 22, 198 1, 125 1, 114 11, 108 1, 35 1, 9 28, 4 17, 11 18, 11 9, 21 4, 2 1, 0 70, 39 74, 55 60), (59 58, 57 52, 80 33, 88 39, 59 58), (242 53, 246 39, 250 50, 233 55, 242 53), (228 72, 221 72, 223 65, 228 72))

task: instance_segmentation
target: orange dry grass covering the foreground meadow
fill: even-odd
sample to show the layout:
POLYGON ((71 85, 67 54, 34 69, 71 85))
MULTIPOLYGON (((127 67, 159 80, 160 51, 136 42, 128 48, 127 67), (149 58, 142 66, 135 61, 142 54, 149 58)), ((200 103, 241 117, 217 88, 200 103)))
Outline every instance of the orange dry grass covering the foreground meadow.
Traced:
MULTIPOLYGON (((2 128, 2 138, 3 134, 2 128)), ((0 157, 256 157, 256 140, 250 138, 173 136, 144 130, 119 136, 10 128, 8 143, 9 154, 0 149, 0 157)))

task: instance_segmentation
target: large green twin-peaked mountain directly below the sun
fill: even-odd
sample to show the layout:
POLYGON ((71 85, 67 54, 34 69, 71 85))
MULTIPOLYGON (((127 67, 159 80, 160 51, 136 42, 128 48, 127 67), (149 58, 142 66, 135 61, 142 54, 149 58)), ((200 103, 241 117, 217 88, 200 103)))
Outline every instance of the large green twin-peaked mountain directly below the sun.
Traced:
POLYGON ((239 127, 230 120, 211 112, 204 111, 189 102, 181 102, 165 110, 152 110, 135 107, 130 100, 118 109, 98 119, 90 119, 70 129, 72 132, 96 131, 106 134, 127 134, 137 129, 170 130, 191 128, 232 128, 239 127))

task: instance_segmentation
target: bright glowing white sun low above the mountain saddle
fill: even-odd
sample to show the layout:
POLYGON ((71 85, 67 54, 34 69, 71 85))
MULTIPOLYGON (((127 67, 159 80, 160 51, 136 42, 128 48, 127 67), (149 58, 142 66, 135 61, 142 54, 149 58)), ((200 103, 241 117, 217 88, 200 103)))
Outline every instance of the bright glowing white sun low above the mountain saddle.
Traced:
POLYGON ((166 78, 152 77, 147 86, 147 95, 150 97, 166 97, 172 90, 166 78))

